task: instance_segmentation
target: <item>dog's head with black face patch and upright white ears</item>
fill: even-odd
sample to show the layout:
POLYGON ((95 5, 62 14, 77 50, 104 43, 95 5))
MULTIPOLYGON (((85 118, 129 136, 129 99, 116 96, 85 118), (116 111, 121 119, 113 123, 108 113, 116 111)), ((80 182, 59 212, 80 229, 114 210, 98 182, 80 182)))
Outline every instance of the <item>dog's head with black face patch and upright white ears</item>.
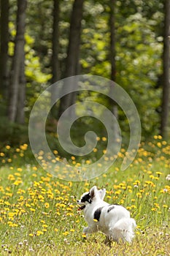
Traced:
POLYGON ((77 200, 77 203, 80 205, 80 210, 84 209, 85 206, 90 205, 94 201, 104 200, 106 195, 106 189, 97 189, 96 186, 92 187, 89 192, 82 194, 80 200, 77 200))

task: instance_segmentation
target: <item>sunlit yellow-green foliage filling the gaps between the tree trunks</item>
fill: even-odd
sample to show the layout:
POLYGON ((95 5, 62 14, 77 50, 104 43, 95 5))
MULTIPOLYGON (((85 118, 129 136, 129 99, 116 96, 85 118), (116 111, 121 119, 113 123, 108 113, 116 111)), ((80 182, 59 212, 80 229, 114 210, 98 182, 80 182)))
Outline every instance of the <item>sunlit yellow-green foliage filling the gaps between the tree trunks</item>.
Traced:
MULTIPOLYGON (((12 0, 9 17, 9 56, 14 52, 16 2, 12 0)), ((72 1, 60 1, 61 78, 65 77, 66 52, 72 1)), ((110 78, 109 60, 109 1, 85 1, 82 20, 80 64, 81 74, 101 75, 110 78), (94 19, 95 17, 95 19, 94 19)), ((26 123, 42 90, 52 78, 51 56, 53 36, 52 1, 28 1, 26 13, 26 123)), ((160 128, 161 54, 163 48, 163 1, 150 3, 115 1, 116 82, 133 99, 142 123, 142 138, 158 133, 160 128)), ((10 67, 9 61, 9 67, 10 67)), ((89 99, 94 95, 89 94, 89 99)), ((108 105, 107 99, 96 95, 97 101, 108 105)), ((77 101, 83 100, 82 95, 77 101)), ((96 100, 96 99, 95 99, 96 100)), ((6 115, 6 113, 4 113, 6 115)), ((128 137, 128 125, 119 109, 123 137, 128 137), (125 128, 125 129, 124 129, 125 128)), ((86 122, 86 121, 85 121, 86 122)))

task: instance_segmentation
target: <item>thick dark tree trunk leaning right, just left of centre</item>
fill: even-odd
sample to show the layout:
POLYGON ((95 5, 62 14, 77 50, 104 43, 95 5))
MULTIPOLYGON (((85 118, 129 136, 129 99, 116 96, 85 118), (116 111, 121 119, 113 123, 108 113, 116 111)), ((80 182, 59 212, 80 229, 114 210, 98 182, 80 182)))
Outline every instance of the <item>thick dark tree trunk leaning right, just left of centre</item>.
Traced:
MULTIPOLYGON (((80 59, 80 37, 81 37, 81 22, 82 22, 82 7, 84 0, 74 0, 72 17, 70 22, 70 32, 69 32, 69 46, 66 58, 66 78, 77 75, 79 72, 79 59, 80 59)), ((76 84, 72 85, 70 83, 66 86, 76 88, 76 84)), ((67 109, 69 106, 74 104, 76 99, 76 93, 70 93, 64 96, 60 102, 59 116, 67 109)), ((73 115, 74 113, 68 113, 73 115)))

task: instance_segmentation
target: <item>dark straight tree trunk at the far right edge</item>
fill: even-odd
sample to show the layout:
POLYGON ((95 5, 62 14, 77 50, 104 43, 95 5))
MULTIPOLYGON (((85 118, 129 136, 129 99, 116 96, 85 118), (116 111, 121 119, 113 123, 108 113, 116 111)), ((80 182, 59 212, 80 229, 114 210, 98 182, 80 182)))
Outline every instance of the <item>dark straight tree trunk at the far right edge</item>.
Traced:
POLYGON ((165 18, 163 31, 163 97, 161 112, 161 135, 167 136, 169 120, 169 79, 170 79, 170 0, 165 0, 165 18))

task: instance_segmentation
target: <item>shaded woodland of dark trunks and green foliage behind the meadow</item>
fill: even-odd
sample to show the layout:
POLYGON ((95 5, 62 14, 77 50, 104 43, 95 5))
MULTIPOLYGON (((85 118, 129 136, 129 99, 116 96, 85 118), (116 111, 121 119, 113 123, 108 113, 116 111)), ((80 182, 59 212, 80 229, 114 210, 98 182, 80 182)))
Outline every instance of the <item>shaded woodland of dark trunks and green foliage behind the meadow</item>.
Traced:
MULTIPOLYGON (((139 111, 142 139, 169 139, 170 0, 1 0, 0 8, 1 146, 27 142, 39 94, 79 74, 115 80, 139 111)), ((63 97, 51 110, 48 132, 53 134, 66 108, 85 97, 93 95, 63 97)), ((127 125, 114 102, 102 95, 94 100, 127 125)))

